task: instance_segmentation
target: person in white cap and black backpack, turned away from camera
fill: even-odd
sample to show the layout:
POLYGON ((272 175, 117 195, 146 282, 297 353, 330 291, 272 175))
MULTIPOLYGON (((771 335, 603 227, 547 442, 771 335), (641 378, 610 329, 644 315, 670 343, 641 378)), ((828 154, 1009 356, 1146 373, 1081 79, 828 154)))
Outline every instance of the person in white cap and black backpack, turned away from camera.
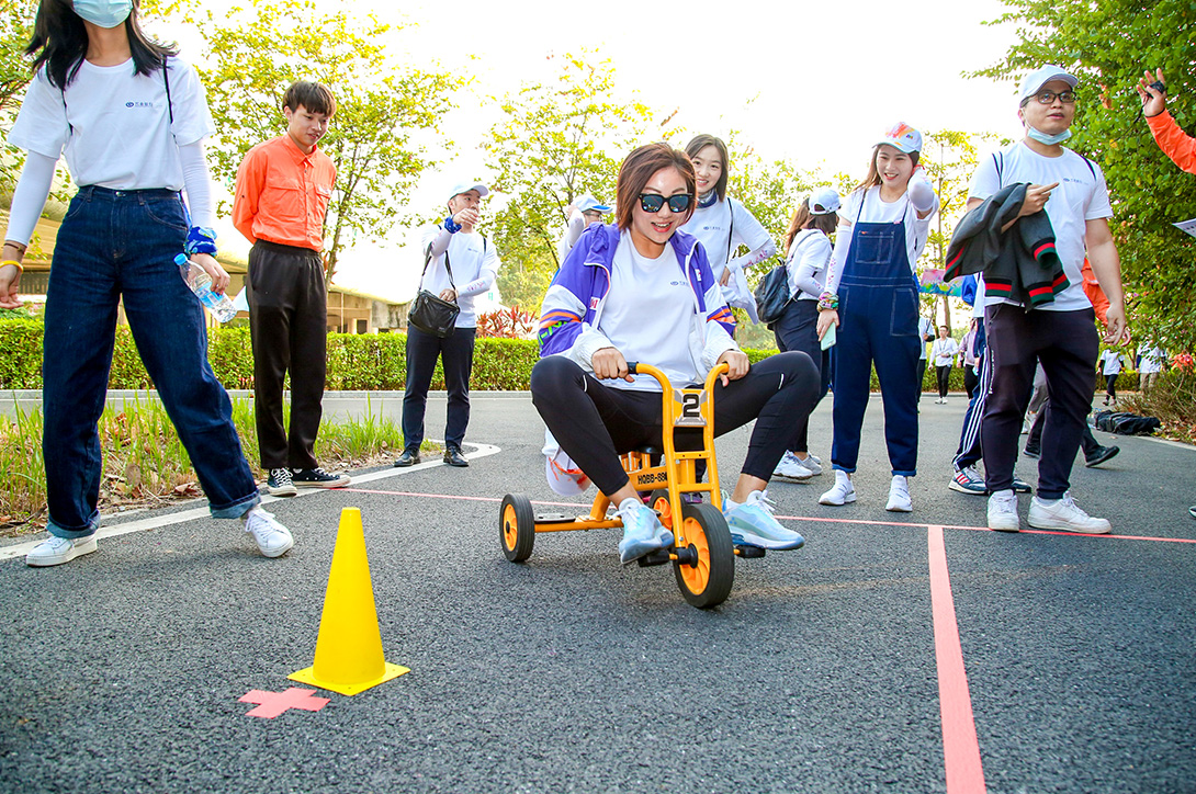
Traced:
MULTIPOLYGON (((818 367, 818 401, 830 387, 830 350, 818 341, 818 295, 826 286, 826 269, 832 249, 829 234, 838 222, 838 194, 822 188, 801 202, 789 221, 786 234, 788 254, 785 268, 789 276, 789 304, 785 314, 773 323, 773 335, 781 353, 801 350, 818 367)), ((814 403, 814 407, 818 402, 814 403)), ((786 451, 773 472, 786 480, 810 480, 822 474, 822 462, 810 454, 810 417, 801 419, 792 450, 786 451)))

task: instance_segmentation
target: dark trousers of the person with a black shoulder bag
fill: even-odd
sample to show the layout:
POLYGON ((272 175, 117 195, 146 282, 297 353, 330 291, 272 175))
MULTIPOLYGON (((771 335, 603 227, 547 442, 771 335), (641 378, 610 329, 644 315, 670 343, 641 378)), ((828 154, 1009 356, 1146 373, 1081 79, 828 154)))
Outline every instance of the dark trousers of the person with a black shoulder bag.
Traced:
POLYGON ((407 386, 403 391, 403 447, 415 452, 423 444, 423 414, 428 405, 428 387, 437 368, 444 365, 448 405, 445 416, 445 446, 460 450, 469 427, 469 377, 474 371, 476 328, 454 328, 445 338, 407 330, 407 386))

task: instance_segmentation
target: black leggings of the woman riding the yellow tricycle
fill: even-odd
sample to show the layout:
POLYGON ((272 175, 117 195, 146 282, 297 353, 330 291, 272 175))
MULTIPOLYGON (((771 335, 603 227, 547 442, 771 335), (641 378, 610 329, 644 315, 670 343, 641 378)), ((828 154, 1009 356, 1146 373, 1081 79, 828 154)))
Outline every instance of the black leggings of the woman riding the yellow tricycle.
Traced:
MULTIPOLYGON (((681 384, 678 384, 681 385, 681 384)), ((756 420, 743 474, 768 481, 818 398, 818 369, 805 353, 780 353, 727 386, 715 384, 714 434, 756 420)), ((629 480, 618 456, 661 444, 660 392, 608 386, 565 356, 531 371, 531 401, 561 448, 610 495, 629 480)))

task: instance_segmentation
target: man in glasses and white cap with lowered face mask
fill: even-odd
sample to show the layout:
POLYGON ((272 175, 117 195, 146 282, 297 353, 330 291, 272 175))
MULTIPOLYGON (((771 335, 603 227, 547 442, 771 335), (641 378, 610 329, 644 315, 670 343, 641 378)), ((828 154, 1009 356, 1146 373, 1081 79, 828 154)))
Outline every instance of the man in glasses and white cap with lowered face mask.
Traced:
POLYGON ((1069 493, 1072 464, 1092 408, 1099 352, 1096 316, 1080 275, 1085 254, 1109 298, 1105 342, 1118 344, 1129 337, 1104 175, 1096 163, 1062 146, 1072 136, 1078 83, 1057 66, 1044 66, 1023 80, 1018 117, 1025 138, 981 160, 968 197, 971 210, 1002 188, 1026 183, 1021 209, 1002 231, 1044 210, 1067 279, 1056 285, 1054 301, 1032 311, 994 294, 991 287, 984 297, 993 355, 991 391, 981 428, 986 485, 991 494, 988 526, 1005 532, 1020 529, 1013 464, 1038 360, 1046 372, 1051 410, 1043 429, 1038 493, 1030 505, 1029 524, 1069 532, 1111 530, 1107 520, 1080 509, 1069 493))

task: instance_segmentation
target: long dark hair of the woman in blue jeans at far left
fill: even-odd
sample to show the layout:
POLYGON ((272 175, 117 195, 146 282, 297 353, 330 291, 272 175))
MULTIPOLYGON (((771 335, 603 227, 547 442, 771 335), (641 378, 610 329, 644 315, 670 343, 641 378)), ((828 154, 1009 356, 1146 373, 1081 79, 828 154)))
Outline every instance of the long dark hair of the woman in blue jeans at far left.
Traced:
MULTIPOLYGON (((148 75, 165 68, 166 59, 178 54, 173 44, 159 44, 141 30, 141 0, 133 0, 133 8, 124 20, 129 37, 135 74, 148 75)), ((50 85, 66 91, 79 73, 87 55, 87 29, 74 12, 72 0, 42 0, 33 22, 33 38, 25 48, 33 56, 33 72, 45 67, 50 85)))

